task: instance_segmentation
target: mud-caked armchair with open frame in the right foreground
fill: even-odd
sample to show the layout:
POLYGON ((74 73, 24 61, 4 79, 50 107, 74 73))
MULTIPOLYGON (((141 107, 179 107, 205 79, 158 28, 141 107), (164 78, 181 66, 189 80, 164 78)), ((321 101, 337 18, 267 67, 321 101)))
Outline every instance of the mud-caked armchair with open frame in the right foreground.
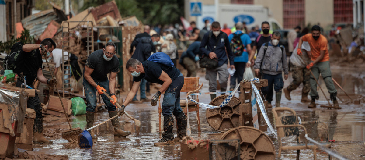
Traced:
MULTIPOLYGON (((303 126, 304 124, 322 123, 326 127, 326 141, 321 144, 325 147, 331 148, 331 143, 328 142, 328 126, 326 123, 320 121, 311 121, 311 122, 308 121, 308 122, 301 122, 299 124, 295 111, 288 107, 277 107, 273 108, 272 111, 275 117, 278 144, 279 144, 278 159, 280 159, 282 150, 297 150, 296 159, 299 160, 300 149, 312 149, 313 158, 314 160, 317 159, 316 149, 318 148, 318 146, 307 143, 306 138, 304 138, 304 143, 300 142, 299 128, 302 128, 304 130, 304 133, 307 134, 307 129, 306 127, 303 126), (282 115, 284 111, 285 113, 289 112, 290 114, 282 115), (280 116, 278 116, 278 113, 280 113, 280 116), (296 136, 297 144, 291 146, 282 146, 281 138, 287 136, 296 136)), ((331 160, 330 155, 328 155, 328 158, 331 160)))

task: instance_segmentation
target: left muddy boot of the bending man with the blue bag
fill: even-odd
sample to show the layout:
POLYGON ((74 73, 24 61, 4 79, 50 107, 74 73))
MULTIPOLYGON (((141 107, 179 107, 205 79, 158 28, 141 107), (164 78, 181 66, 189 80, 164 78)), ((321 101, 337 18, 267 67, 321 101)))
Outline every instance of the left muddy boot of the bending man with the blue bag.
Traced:
MULTIPOLYGON (((162 138, 158 142, 154 142, 154 146, 166 146, 174 145, 174 134, 172 134, 172 129, 174 127, 174 119, 172 116, 164 116, 164 133, 162 133, 162 138)), ((186 130, 186 125, 185 125, 186 130)))

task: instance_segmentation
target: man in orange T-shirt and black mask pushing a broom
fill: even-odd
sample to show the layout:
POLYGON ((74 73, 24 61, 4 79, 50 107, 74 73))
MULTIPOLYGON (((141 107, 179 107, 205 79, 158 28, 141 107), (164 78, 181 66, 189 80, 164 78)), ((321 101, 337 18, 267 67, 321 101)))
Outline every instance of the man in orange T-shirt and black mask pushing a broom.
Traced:
MULTIPOLYGON (((313 26, 312 33, 308 33, 299 39, 297 50, 297 54, 299 55, 302 54, 300 48, 303 41, 308 42, 311 46, 311 54, 308 55, 311 57, 311 63, 307 65, 307 69, 312 70, 316 79, 318 79, 319 73, 322 75, 324 83, 326 83, 326 87, 330 93, 330 98, 333 101, 333 106, 338 108, 338 102, 336 100, 337 90, 331 78, 330 56, 328 54, 326 37, 320 34, 319 26, 313 26)), ((314 80, 313 75, 311 75, 309 80, 311 84, 311 92, 309 95, 312 97, 312 102, 309 104, 308 108, 315 108, 315 99, 319 98, 317 83, 314 80)))

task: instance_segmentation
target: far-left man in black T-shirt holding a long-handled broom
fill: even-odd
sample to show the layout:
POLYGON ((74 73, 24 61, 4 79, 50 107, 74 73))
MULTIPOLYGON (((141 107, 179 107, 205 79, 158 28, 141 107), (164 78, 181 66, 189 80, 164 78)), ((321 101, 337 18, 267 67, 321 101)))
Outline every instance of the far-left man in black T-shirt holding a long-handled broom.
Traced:
MULTIPOLYGON (((42 73, 42 55, 46 56, 47 54, 50 54, 55 47, 56 43, 54 43, 51 38, 43 39, 41 45, 26 44, 22 46, 22 50, 20 50, 15 61, 16 68, 13 70, 14 73, 19 75, 18 81, 16 81, 16 87, 24 88, 23 84, 25 83, 31 88, 34 88, 33 82, 36 78, 38 81, 47 83, 51 86, 53 86, 53 84, 57 84, 57 80, 55 78, 46 79, 42 73)), ((28 98, 27 108, 31 108, 35 111, 33 125, 34 143, 53 143, 43 136, 42 106, 37 92, 35 92, 34 97, 28 98)))

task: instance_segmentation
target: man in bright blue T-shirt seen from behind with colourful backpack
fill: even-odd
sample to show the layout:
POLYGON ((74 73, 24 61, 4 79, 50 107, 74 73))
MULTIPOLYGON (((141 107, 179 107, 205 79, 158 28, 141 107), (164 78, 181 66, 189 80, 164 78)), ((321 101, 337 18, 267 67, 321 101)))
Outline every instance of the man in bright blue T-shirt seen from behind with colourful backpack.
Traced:
POLYGON ((242 33, 243 24, 241 22, 238 22, 236 24, 236 32, 233 34, 230 34, 228 36, 228 40, 231 42, 233 37, 235 35, 240 35, 241 43, 245 47, 244 52, 241 54, 241 56, 235 56, 234 57, 234 66, 236 68, 236 72, 234 72, 234 75, 231 76, 231 87, 230 91, 233 91, 233 89, 236 87, 236 79, 238 80, 237 83, 239 83, 243 78, 243 73, 245 72, 246 63, 249 59, 249 54, 251 52, 251 39, 247 34, 242 33))

